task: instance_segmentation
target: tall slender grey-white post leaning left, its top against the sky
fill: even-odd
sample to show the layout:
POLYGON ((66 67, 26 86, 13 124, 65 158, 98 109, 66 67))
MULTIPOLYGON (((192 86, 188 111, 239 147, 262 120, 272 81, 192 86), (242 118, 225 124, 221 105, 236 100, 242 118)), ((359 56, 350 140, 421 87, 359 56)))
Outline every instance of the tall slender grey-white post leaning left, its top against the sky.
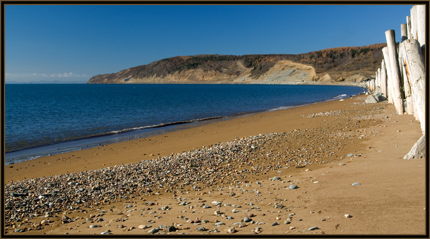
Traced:
POLYGON ((386 43, 388 45, 388 53, 390 57, 391 76, 393 80, 393 101, 397 113, 403 115, 403 97, 400 86, 400 69, 399 69, 399 56, 396 49, 395 31, 385 31, 386 43))

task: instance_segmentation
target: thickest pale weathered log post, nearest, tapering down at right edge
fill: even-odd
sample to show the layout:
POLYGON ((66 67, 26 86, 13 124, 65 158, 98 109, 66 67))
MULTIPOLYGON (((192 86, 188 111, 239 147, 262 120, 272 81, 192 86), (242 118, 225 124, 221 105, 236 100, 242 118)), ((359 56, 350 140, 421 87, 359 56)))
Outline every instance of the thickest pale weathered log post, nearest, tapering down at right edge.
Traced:
POLYGON ((406 63, 406 73, 410 80, 414 105, 421 123, 421 131, 425 133, 425 68, 419 42, 408 39, 400 44, 400 50, 406 63))

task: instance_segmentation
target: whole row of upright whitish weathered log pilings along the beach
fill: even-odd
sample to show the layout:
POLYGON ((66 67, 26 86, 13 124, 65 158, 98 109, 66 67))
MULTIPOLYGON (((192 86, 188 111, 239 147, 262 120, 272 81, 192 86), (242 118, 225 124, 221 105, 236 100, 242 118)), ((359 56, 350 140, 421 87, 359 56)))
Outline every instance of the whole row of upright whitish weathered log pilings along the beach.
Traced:
MULTIPOLYGON (((375 79, 367 82, 370 90, 382 93, 393 103, 399 115, 413 114, 421 124, 423 136, 404 159, 423 157, 414 149, 425 147, 425 8, 415 5, 406 23, 401 24, 401 42, 396 44, 395 31, 385 31, 387 46, 382 49, 381 67, 375 79)), ((425 157, 425 148, 424 148, 425 157)))

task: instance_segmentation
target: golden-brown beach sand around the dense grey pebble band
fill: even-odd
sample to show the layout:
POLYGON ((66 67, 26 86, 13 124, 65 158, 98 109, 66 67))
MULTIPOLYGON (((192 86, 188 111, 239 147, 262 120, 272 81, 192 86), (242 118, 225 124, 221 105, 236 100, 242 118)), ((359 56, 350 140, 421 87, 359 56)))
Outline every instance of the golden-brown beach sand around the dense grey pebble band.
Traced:
MULTIPOLYGON (((157 233, 222 235, 230 234, 227 230, 234 227, 231 236, 425 234, 426 159, 402 159, 421 136, 419 122, 412 115, 397 115, 394 106, 386 101, 365 104, 365 99, 365 95, 359 95, 344 101, 259 113, 6 165, 6 183, 45 177, 33 180, 37 185, 37 181, 50 175, 108 167, 113 170, 143 160, 155 163, 166 156, 174 158, 180 153, 205 152, 232 144, 228 142, 247 142, 250 136, 264 139, 255 149, 248 145, 243 148, 245 152, 230 152, 244 156, 234 160, 226 156, 229 162, 219 163, 223 168, 219 172, 226 176, 212 178, 211 183, 191 181, 152 191, 145 187, 131 190, 128 199, 110 199, 92 206, 73 204, 68 210, 47 216, 44 212, 49 208, 38 209, 40 215, 18 221, 10 220, 7 214, 6 233, 92 235, 109 230, 112 234, 148 236, 149 230, 159 228, 157 233), (350 154, 353 155, 347 156, 350 154), (122 164, 125 166, 120 167, 122 164), (272 180, 275 176, 279 180, 272 180), (360 185, 352 185, 356 182, 360 185), (289 189, 290 184, 298 188, 289 189), (214 201, 221 204, 217 206, 214 201), (186 204, 180 205, 181 202, 186 204), (165 206, 168 210, 162 210, 165 206), (63 216, 71 220, 63 223, 63 216), (251 222, 243 222, 247 216, 251 222), (42 220, 47 224, 40 227, 37 223, 42 220), (224 224, 215 225, 217 222, 224 224), (233 225, 238 222, 242 223, 233 225), (273 225, 275 222, 278 225, 273 225), (95 224, 101 227, 90 228, 95 224), (171 225, 178 230, 167 232, 171 225), (202 227, 207 230, 201 231, 202 227), (256 230, 257 227, 260 228, 256 230), (15 232, 17 229, 25 231, 15 232)), ((193 167, 196 175, 204 171, 210 178, 215 173, 209 170, 217 172, 218 166, 193 167)), ((169 169, 164 165, 160 170, 169 169)), ((182 176, 193 175, 188 171, 182 176)), ((89 185, 80 186, 85 188, 84 193, 88 192, 89 185)), ((48 192, 51 188, 46 190, 52 193, 48 192)), ((8 195, 8 190, 5 193, 8 205, 23 200, 8 195)))

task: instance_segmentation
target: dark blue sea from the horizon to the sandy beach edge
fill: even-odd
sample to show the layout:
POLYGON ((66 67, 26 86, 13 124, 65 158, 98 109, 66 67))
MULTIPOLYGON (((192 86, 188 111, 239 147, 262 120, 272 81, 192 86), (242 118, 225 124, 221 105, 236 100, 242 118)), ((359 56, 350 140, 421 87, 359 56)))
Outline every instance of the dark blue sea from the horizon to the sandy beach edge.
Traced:
POLYGON ((337 85, 6 84, 4 164, 364 90, 337 85))

